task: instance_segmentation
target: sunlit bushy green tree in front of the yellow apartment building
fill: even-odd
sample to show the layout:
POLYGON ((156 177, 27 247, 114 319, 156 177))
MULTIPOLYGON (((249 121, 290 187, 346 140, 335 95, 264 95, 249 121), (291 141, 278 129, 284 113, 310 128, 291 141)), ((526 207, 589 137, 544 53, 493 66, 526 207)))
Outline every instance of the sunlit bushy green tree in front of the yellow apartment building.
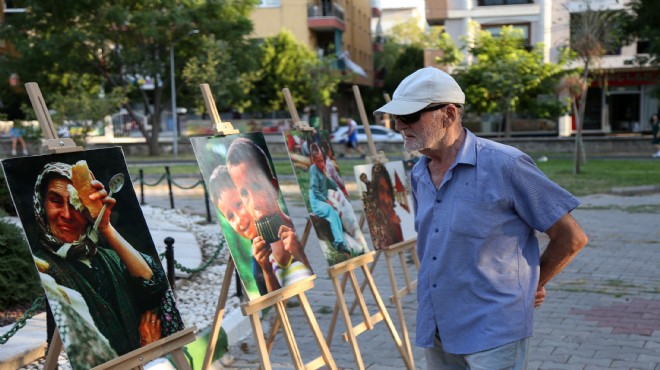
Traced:
POLYGON ((259 70, 250 77, 250 111, 285 110, 282 89, 287 87, 297 107, 329 106, 342 80, 332 56, 319 57, 288 30, 264 40, 259 70))

